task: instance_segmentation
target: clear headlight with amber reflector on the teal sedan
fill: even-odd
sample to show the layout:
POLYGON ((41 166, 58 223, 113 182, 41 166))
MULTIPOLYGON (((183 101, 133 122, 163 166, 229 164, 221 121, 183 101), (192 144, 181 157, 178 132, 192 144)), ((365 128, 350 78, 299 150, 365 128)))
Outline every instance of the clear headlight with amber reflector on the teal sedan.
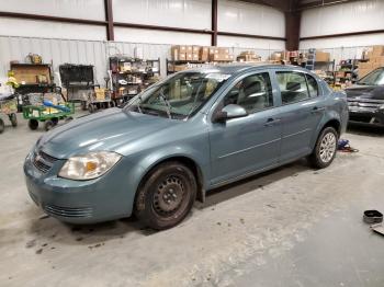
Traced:
POLYGON ((64 164, 58 175, 78 181, 97 179, 115 165, 121 158, 121 154, 110 151, 71 157, 64 164))

